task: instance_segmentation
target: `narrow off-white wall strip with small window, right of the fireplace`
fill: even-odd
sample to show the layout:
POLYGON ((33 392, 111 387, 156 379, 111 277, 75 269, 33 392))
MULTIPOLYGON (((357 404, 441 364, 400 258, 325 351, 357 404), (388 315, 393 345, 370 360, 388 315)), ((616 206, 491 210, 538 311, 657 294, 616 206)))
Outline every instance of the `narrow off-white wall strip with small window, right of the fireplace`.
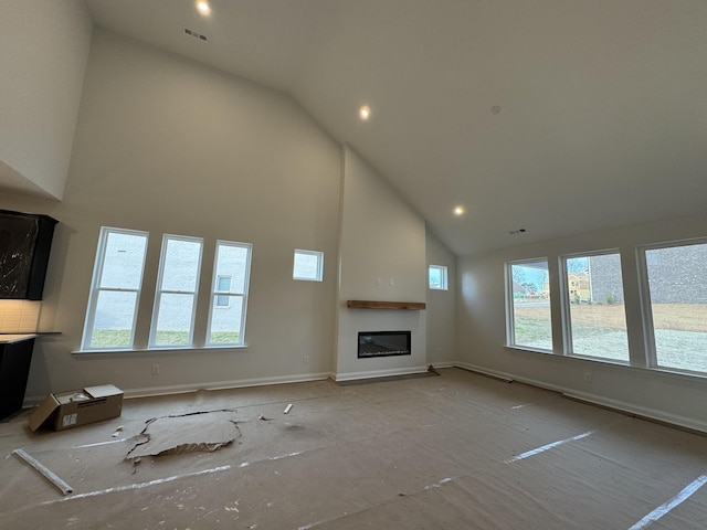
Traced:
POLYGON ((458 360, 456 349, 456 256, 428 230, 428 268, 443 265, 447 268, 447 290, 428 289, 428 363, 434 367, 452 365, 458 360))

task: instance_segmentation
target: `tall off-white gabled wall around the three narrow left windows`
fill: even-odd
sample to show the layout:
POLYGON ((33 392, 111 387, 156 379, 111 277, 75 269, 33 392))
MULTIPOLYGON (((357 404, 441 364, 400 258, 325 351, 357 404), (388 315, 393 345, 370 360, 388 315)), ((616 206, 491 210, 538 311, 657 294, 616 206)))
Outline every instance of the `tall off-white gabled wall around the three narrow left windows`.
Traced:
POLYGON ((340 173, 340 147, 292 98, 97 29, 64 200, 0 198, 60 221, 40 328, 62 335, 38 340, 27 401, 106 382, 138 394, 327 377, 340 173), (163 233, 203 237, 209 258, 217 239, 252 243, 249 348, 72 354, 102 225, 150 233, 144 331, 163 233), (295 248, 325 252, 323 283, 292 279, 295 248))

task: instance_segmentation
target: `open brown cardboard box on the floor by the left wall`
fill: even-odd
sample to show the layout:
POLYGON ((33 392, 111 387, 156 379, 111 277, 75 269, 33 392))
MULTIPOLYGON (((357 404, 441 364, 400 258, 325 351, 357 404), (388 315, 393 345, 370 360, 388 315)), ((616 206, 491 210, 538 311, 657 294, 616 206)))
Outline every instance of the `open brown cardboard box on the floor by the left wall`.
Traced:
POLYGON ((30 416, 32 431, 44 422, 54 431, 117 417, 123 410, 123 391, 113 384, 86 386, 82 390, 50 394, 30 416))

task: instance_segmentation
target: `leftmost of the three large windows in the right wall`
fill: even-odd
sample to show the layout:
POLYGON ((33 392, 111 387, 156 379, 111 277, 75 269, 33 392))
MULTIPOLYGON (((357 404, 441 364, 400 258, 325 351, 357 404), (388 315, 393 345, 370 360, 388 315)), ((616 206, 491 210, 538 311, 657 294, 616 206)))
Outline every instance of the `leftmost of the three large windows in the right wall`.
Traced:
POLYGON ((552 350, 548 261, 506 264, 508 343, 552 350))

